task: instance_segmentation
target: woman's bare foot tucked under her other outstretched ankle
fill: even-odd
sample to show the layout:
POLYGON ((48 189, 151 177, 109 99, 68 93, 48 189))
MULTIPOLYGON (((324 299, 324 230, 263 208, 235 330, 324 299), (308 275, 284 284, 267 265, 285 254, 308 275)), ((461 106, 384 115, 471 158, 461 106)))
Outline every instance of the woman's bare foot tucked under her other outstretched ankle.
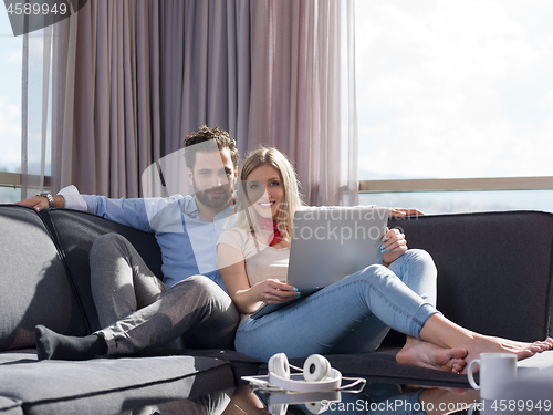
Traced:
POLYGON ((461 347, 442 349, 432 343, 407 338, 404 349, 396 355, 396 362, 459 373, 467 365, 465 362, 466 355, 467 351, 461 347))

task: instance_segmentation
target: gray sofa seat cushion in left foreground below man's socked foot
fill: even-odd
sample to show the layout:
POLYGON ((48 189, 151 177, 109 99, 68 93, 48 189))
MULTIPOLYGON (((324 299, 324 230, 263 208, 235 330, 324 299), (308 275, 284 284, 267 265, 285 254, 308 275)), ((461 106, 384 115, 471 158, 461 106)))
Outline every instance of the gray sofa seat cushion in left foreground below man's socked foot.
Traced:
POLYGON ((25 414, 118 414, 234 385, 228 363, 206 357, 36 361, 0 354, 0 395, 22 402, 25 414))

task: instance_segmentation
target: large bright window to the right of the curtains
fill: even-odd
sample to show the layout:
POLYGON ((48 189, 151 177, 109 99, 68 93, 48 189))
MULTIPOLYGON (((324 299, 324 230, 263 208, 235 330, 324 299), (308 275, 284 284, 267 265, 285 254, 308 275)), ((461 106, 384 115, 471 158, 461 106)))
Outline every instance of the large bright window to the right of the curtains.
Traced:
POLYGON ((362 203, 427 212, 553 210, 553 3, 355 7, 359 179, 368 180, 362 189, 378 189, 362 203), (397 191, 431 189, 427 179, 492 191, 397 191))

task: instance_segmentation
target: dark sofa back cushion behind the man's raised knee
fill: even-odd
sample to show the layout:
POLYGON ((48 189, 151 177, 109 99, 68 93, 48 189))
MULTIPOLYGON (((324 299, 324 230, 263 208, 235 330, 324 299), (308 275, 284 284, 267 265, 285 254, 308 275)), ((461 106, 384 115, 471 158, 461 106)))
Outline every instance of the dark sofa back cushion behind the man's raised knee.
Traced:
POLYGON ((101 328, 92 297, 88 255, 92 243, 98 236, 109 232, 123 235, 133 243, 149 269, 163 279, 161 252, 153 234, 77 210, 52 209, 48 215, 49 226, 64 256, 93 331, 101 328))

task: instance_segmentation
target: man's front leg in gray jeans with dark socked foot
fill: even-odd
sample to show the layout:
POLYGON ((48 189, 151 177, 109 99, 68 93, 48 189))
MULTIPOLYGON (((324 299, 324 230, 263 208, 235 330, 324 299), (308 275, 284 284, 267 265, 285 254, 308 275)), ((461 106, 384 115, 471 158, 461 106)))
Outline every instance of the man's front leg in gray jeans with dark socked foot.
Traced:
POLYGON ((189 347, 233 349, 239 313, 227 293, 207 277, 171 287, 156 302, 85 338, 35 329, 39 359, 86 360, 128 355, 182 336, 189 347), (98 342, 100 341, 100 342, 98 342))

